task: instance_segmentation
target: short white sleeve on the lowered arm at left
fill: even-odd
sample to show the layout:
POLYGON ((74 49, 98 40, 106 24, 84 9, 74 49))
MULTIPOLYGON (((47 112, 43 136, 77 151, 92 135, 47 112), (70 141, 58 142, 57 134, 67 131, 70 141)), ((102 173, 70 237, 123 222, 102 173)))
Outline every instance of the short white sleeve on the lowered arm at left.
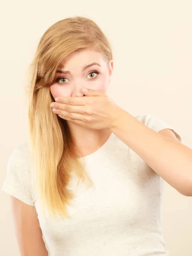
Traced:
POLYGON ((3 184, 2 191, 12 195, 25 204, 34 206, 29 150, 26 144, 15 148, 9 157, 6 180, 3 184))

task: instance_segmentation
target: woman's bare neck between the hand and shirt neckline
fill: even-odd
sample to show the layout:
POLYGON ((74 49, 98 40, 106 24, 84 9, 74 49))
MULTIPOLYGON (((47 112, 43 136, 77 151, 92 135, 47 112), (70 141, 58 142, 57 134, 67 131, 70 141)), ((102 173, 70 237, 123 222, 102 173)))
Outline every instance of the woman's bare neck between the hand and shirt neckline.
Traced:
POLYGON ((111 135, 111 131, 108 129, 93 130, 71 122, 67 122, 67 124, 73 141, 81 153, 80 157, 97 151, 111 135))

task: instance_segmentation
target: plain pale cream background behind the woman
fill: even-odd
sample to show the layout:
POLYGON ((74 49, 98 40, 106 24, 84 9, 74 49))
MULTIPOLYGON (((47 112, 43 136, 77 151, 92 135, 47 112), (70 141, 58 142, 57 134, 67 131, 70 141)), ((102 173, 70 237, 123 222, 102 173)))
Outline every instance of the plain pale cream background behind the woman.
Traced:
MULTIPOLYGON (((109 95, 116 103, 132 115, 157 115, 192 148, 190 0, 1 0, 0 186, 12 150, 28 140, 24 84, 37 43, 49 26, 74 15, 96 21, 111 41, 109 95)), ((9 196, 0 193, 0 202, 0 256, 19 256, 9 196)), ((192 198, 168 184, 163 232, 170 256, 192 255, 192 198)))

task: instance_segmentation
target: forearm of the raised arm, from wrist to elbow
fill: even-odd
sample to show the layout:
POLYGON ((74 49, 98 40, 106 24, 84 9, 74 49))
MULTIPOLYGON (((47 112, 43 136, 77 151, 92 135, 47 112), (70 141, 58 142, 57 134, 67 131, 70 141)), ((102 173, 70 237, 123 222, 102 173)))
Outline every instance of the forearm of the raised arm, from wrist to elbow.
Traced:
POLYGON ((148 128, 124 110, 120 116, 111 131, 172 187, 192 196, 192 149, 148 128))

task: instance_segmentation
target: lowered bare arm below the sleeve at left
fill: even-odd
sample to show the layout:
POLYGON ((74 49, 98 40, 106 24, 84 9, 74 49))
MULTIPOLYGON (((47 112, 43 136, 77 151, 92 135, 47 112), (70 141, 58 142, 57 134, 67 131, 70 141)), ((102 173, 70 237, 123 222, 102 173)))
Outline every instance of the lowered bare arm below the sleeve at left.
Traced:
POLYGON ((35 207, 14 197, 11 203, 21 256, 48 256, 35 207))

